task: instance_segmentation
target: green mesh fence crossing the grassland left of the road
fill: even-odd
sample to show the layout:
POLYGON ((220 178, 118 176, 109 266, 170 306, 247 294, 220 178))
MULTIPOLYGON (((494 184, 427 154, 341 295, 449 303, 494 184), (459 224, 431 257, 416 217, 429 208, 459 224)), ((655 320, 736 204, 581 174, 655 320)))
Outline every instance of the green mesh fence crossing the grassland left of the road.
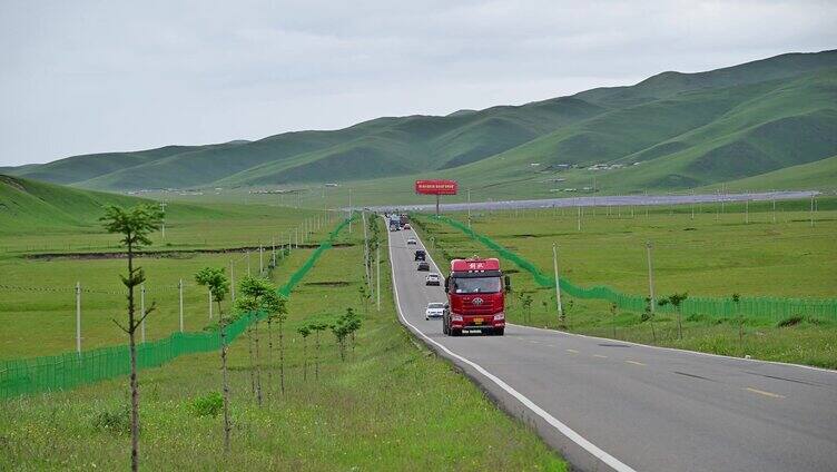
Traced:
MULTIPOLYGON (((343 220, 317 247, 291 278, 278 288, 288 297, 294 287, 311 271, 325 250, 332 247, 334 238, 348 224, 343 220)), ((266 313, 248 313, 230 323, 226 328, 227 342, 232 343, 247 327, 267 316, 266 313)), ((201 333, 174 333, 170 336, 137 345, 137 367, 158 367, 185 354, 206 353, 220 350, 217 331, 201 333)), ((0 399, 72 389, 106 378, 130 374, 130 352, 127 345, 101 347, 79 353, 23 360, 0 361, 0 399)))

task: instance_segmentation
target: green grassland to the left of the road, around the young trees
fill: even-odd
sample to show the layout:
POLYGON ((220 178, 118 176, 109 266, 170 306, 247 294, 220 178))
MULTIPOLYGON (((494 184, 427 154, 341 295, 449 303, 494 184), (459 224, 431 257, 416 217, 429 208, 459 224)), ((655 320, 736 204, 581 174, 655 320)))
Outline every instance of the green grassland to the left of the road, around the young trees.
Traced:
MULTIPOLYGON (((286 217, 289 223, 298 223, 286 217)), ((140 372, 142 469, 567 469, 536 434, 498 410, 450 364, 416 346, 394 315, 386 259, 382 260, 381 312, 363 302, 362 235, 360 224, 354 225, 351 236, 344 230, 335 247, 324 254, 288 301, 284 394, 278 386, 276 345, 272 362, 264 357, 264 331, 262 378, 269 399, 260 407, 250 392, 253 367, 246 336, 230 346, 229 455, 223 452, 220 417, 213 413, 214 399, 220 390, 218 353, 187 355, 163 367, 140 372), (341 362, 328 331, 321 334, 318 356, 313 336, 303 347, 298 327, 312 321, 331 322, 347 307, 361 313, 363 324, 345 362, 341 362), (319 357, 318 378, 314 370, 316 357, 319 357)), ((220 236, 218 239, 229 243, 220 236)), ((272 272, 276 285, 283 284, 312 250, 299 248, 280 259, 272 272)), ((381 253, 386 257, 386 250, 381 253)), ((24 255, 7 254, 0 259, 0 271, 13 273, 17 283, 72 286, 82 278, 90 281, 90 287, 114 291, 82 293, 83 345, 90 348, 125 342, 111 322, 125 316, 125 295, 116 293, 125 260, 30 260, 21 257, 24 255)), ((243 275, 245 260, 242 254, 236 256, 239 256, 236 274, 243 275)), ((154 293, 148 302, 155 298, 159 305, 147 321, 148 340, 177 330, 174 287, 179 278, 187 283, 186 330, 200 331, 211 323, 207 294, 194 285, 193 277, 204 266, 227 267, 229 255, 188 254, 140 258, 138 263, 146 268, 149 295, 154 293)), ((257 256, 252 255, 250 263, 255 273, 257 256)), ((3 294, 9 295, 9 291, 3 294)), ((13 292, 0 305, 4 325, 0 357, 71 351, 73 296, 71 291, 13 292)), ((229 301, 224 307, 229 309, 229 301)), ((0 402, 0 470, 127 466, 128 403, 127 378, 0 402)))

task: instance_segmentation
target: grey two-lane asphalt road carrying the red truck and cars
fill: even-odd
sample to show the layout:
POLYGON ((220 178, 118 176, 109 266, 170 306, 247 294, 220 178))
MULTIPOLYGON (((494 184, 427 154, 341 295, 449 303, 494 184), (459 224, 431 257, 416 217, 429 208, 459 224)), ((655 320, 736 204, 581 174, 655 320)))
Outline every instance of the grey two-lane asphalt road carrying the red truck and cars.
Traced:
POLYGON ((390 233, 402 323, 577 468, 837 471, 837 372, 518 325, 449 337, 424 319, 445 295, 424 285, 407 237, 390 233))

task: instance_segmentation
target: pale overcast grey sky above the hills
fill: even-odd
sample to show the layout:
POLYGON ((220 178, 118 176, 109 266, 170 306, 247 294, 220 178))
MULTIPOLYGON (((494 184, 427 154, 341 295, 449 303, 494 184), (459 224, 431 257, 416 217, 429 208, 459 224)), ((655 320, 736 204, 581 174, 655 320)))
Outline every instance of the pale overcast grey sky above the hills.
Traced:
POLYGON ((0 0, 0 166, 837 48, 837 1, 0 0))

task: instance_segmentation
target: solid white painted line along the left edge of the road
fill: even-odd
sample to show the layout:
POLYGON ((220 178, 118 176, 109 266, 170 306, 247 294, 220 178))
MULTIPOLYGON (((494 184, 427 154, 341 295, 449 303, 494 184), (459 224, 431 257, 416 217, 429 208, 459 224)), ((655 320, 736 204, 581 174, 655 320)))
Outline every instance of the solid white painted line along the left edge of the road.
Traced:
MULTIPOLYGON (((413 233, 415 234, 415 232, 413 232, 413 233)), ((418 239, 418 235, 417 234, 415 234, 415 237, 416 237, 416 239, 418 239)), ((395 265, 394 265, 394 257, 393 257, 393 252, 392 252, 392 244, 388 244, 388 243, 392 243, 392 237, 391 237, 391 233, 387 230, 387 246, 390 246, 388 247, 388 249, 390 249, 390 268, 391 268, 392 283, 393 283, 393 293, 395 294, 395 307, 398 309, 398 316, 401 317, 401 321, 405 325, 410 326, 410 328, 413 331, 413 333, 415 333, 418 336, 423 337, 425 342, 432 343, 432 344, 436 345, 440 350, 444 351, 451 357, 454 357, 454 358, 456 358, 456 360, 459 360, 459 361, 461 361, 461 362, 470 365, 474 370, 476 370, 476 372, 481 373, 486 378, 489 378, 490 381, 494 382, 499 387, 503 389, 506 393, 509 393, 510 395, 512 395, 513 397, 515 397, 519 402, 521 402, 525 407, 528 407, 529 410, 531 410, 534 414, 536 414, 538 416, 542 417, 546 423, 549 423, 552 427, 557 429, 561 434, 563 434, 564 436, 569 437, 572 442, 574 442, 575 444, 578 444, 581 448, 583 448, 587 452, 589 452, 590 454, 592 454, 594 458, 599 459, 600 461, 604 462, 605 464, 608 464, 613 470, 616 470, 618 472, 636 472, 636 470, 633 470, 629 465, 622 463, 617 458, 614 458, 614 456, 608 454, 607 452, 602 451, 599 446, 597 446, 595 444, 593 444, 590 441, 588 441, 587 439, 584 439, 581 434, 579 434, 575 431, 573 431, 570 426, 568 426, 564 423, 560 422, 558 419, 555 419, 554 416, 552 416, 551 414, 549 414, 545 410, 543 410, 542 407, 538 406, 538 404, 535 404, 534 402, 532 402, 531 400, 529 400, 525 395, 523 395, 522 393, 520 393, 516 390, 514 390, 511 385, 509 385, 505 382, 503 382, 496 375, 494 375, 491 372, 489 372, 485 368, 483 368, 480 364, 477 364, 477 363, 475 363, 475 362, 473 362, 473 361, 471 361, 469 358, 465 358, 465 357, 463 357, 463 356, 454 353, 453 351, 449 350, 444 345, 442 345, 442 344, 437 343, 436 341, 432 340, 426 334, 422 333, 417 327, 413 326, 413 324, 411 324, 407 321, 407 318, 404 316, 404 312, 401 309, 401 301, 398 299, 398 286, 395 283, 395 265)), ((422 246, 424 247, 424 244, 422 244, 422 246)), ((430 253, 427 253, 427 256, 430 256, 430 253)), ((436 271, 439 271, 439 266, 436 265, 436 262, 433 260, 432 256, 430 257, 430 259, 433 263, 433 265, 436 266, 436 271)))

